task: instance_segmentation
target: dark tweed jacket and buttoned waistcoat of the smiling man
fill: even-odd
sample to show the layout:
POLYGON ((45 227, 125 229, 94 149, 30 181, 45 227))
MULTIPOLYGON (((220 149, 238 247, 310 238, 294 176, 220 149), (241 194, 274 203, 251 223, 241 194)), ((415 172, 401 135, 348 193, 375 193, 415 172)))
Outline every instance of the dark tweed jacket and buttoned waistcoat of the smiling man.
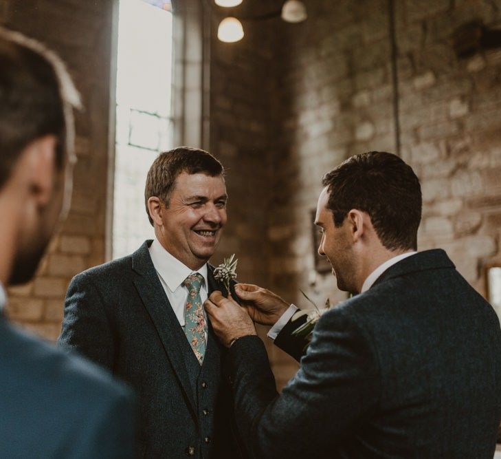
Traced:
MULTIPOLYGON (((109 368, 140 401, 140 456, 238 458, 225 349, 208 330, 200 367, 159 281, 146 241, 71 281, 60 345, 109 368)), ((223 290, 208 270, 209 290, 223 290)))

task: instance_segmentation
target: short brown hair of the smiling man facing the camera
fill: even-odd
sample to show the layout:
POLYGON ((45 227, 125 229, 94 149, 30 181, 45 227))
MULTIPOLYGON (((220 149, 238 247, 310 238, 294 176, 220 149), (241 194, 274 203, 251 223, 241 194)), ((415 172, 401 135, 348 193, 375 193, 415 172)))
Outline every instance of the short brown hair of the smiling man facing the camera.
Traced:
POLYGON ((224 168, 223 164, 208 151, 197 148, 177 147, 160 153, 151 164, 144 189, 144 204, 152 226, 153 220, 148 211, 148 199, 156 196, 168 206, 169 194, 174 188, 177 176, 183 172, 190 175, 204 173, 215 177, 224 175, 224 168))

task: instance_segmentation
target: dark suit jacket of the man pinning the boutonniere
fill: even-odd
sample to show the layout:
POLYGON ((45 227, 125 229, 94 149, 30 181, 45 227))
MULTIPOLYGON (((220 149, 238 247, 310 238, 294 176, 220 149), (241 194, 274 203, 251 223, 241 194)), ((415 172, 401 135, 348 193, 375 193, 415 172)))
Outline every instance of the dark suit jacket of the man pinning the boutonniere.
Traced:
MULTIPOLYGON (((296 358, 299 324, 275 341, 296 358)), ((500 323, 443 250, 399 261, 326 312, 281 395, 260 339, 238 339, 229 358, 254 458, 493 457, 500 323)))

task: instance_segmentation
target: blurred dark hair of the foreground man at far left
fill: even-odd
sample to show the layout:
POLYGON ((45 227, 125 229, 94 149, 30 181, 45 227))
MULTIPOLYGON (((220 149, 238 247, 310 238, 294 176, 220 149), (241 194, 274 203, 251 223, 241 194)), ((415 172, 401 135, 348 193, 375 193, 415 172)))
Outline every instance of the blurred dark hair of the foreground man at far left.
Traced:
POLYGON ((56 54, 0 28, 0 187, 23 149, 47 134, 58 139, 56 164, 61 167, 70 123, 73 129, 72 109, 79 106, 78 92, 56 54))

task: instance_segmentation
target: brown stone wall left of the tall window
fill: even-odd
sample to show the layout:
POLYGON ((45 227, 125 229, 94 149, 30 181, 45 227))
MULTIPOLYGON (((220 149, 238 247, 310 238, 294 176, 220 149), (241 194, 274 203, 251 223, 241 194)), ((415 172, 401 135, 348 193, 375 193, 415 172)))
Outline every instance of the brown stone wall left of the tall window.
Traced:
POLYGON ((60 332, 71 277, 105 256, 112 4, 0 0, 0 25, 33 36, 63 56, 85 106, 76 115, 78 164, 68 220, 34 281, 9 290, 8 316, 47 339, 60 332))

